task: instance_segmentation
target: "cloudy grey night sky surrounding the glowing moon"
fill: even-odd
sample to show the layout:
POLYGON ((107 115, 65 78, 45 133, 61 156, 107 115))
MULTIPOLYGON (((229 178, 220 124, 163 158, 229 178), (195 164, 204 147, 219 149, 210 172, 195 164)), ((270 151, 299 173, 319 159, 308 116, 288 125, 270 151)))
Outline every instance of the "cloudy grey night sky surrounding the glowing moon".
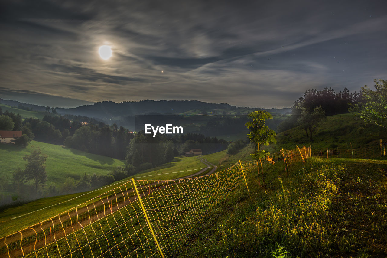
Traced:
POLYGON ((385 10, 385 0, 2 0, 0 98, 291 107, 310 88, 387 79, 385 10))

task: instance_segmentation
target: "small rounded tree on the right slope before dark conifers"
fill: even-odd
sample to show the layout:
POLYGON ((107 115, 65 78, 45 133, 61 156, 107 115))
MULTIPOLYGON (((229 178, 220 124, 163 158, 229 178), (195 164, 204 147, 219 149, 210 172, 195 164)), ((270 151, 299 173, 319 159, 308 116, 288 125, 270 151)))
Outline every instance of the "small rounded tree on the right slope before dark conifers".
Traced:
POLYGON ((307 132, 309 130, 309 139, 312 142, 313 131, 319 126, 319 122, 325 119, 325 110, 321 106, 314 107, 312 110, 308 108, 300 108, 300 117, 298 118, 298 123, 304 127, 307 132))

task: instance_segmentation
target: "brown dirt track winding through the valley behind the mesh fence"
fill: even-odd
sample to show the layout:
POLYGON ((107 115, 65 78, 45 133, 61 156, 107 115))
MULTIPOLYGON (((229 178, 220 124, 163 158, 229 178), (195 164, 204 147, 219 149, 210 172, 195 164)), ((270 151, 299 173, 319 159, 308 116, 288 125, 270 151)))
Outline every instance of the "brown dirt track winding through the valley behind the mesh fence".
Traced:
MULTIPOLYGON (((200 158, 200 162, 205 164, 207 167, 199 170, 198 172, 195 172, 194 174, 187 175, 184 177, 179 177, 179 178, 173 179, 173 180, 187 179, 190 177, 195 177, 196 175, 204 173, 208 169, 208 167, 215 166, 212 163, 209 163, 207 160, 203 160, 202 158, 200 158)), ((212 174, 214 171, 216 171, 216 169, 217 169, 217 167, 214 167, 206 175, 212 174)), ((139 190, 147 187, 146 188, 147 191, 144 191, 143 193, 140 194, 141 197, 144 197, 146 195, 149 195, 153 191, 161 190, 164 187, 169 186, 170 182, 172 182, 172 181, 171 180, 164 180, 164 181, 159 181, 158 183, 153 182, 152 184, 142 185, 142 186, 137 186, 137 187, 139 190), (158 184, 159 186, 154 187, 154 186, 156 186, 156 184, 158 184)), ((86 206, 79 208, 77 210, 73 210, 71 212, 60 213, 59 216, 51 218, 51 220, 46 221, 46 223, 43 223, 43 224, 38 223, 38 224, 32 226, 31 230, 23 232, 23 239, 25 239, 26 237, 29 237, 29 236, 36 235, 35 231, 39 232, 42 230, 50 229, 50 232, 51 232, 51 227, 53 227, 53 225, 61 224, 67 220, 71 220, 72 218, 74 219, 74 217, 77 217, 77 214, 81 215, 82 213, 88 213, 89 211, 92 211, 92 210, 96 211, 96 209, 99 208, 100 206, 102 206, 102 205, 104 206, 104 209, 102 211, 96 213, 96 215, 89 216, 84 220, 77 221, 76 223, 74 223, 74 221, 73 221, 72 225, 69 225, 68 227, 64 228, 63 230, 60 230, 59 232, 55 232, 55 234, 54 234, 54 232, 51 232, 50 234, 48 234, 48 236, 46 236, 46 241, 45 241, 45 239, 38 239, 38 241, 36 243, 34 243, 34 241, 33 241, 33 243, 31 243, 27 246, 24 246, 23 247, 24 254, 31 253, 32 251, 34 251, 34 248, 39 249, 45 245, 53 243, 53 242, 55 242, 55 239, 61 239, 62 237, 65 237, 68 234, 71 234, 72 232, 81 229, 82 227, 85 227, 89 224, 92 224, 93 222, 96 222, 97 220, 100 220, 101 218, 104 218, 104 217, 110 215, 111 213, 123 208, 127 204, 134 202, 135 200, 137 200, 137 197, 130 196, 132 194, 134 194, 133 189, 121 191, 120 193, 113 194, 112 196, 108 196, 107 198, 104 198, 104 199, 100 198, 100 200, 94 201, 94 203, 91 203, 91 204, 87 204, 86 206), (112 205, 113 201, 117 201, 118 198, 120 198, 120 197, 123 197, 123 200, 112 205)), ((5 241, 4 241, 4 237, 2 237, 2 238, 0 238, 0 248, 4 247, 5 249, 7 249, 7 247, 5 246, 4 243, 6 243, 9 246, 12 242, 15 242, 15 241, 20 242, 20 239, 21 239, 20 233, 15 233, 15 234, 12 234, 11 236, 8 236, 7 239, 5 239, 5 241)), ((17 251, 12 253, 11 257, 22 257, 22 256, 23 255, 22 255, 21 249, 18 249, 17 251)), ((7 253, 0 254, 0 257, 8 257, 8 254, 7 253)))

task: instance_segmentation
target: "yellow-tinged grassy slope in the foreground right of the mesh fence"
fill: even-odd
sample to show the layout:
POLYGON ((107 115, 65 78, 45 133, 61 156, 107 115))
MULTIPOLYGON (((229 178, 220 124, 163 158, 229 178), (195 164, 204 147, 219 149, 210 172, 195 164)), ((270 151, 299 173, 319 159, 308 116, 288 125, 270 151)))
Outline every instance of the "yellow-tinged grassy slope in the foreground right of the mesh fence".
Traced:
POLYGON ((180 257, 387 255, 386 160, 311 158, 250 192, 252 200, 229 206, 180 257))

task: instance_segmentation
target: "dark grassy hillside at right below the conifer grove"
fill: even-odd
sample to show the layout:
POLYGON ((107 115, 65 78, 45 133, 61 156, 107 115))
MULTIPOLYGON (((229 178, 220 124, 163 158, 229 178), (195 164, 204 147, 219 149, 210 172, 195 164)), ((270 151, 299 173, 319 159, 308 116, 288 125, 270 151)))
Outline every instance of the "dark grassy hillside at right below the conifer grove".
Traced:
POLYGON ((295 148, 296 144, 312 144, 312 148, 364 148, 378 146, 379 139, 386 138, 387 131, 376 125, 365 125, 353 114, 332 115, 313 132, 313 141, 305 135, 301 126, 294 127, 277 134, 277 144, 270 144, 269 151, 278 151, 281 147, 286 149, 295 148))

